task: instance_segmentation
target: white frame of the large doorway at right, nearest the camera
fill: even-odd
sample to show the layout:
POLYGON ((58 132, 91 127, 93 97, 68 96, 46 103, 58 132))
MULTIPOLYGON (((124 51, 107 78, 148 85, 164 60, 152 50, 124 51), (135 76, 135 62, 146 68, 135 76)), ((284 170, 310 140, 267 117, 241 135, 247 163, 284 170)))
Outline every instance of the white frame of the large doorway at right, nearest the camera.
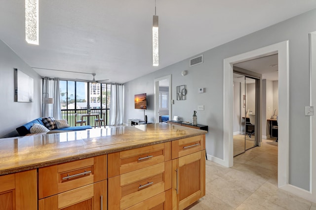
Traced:
MULTIPOLYGON (((288 40, 224 59, 224 164, 234 165, 233 154, 233 65, 278 54, 278 187, 288 185, 289 150, 289 51, 288 40)), ((262 113, 260 113, 262 114, 262 113)))

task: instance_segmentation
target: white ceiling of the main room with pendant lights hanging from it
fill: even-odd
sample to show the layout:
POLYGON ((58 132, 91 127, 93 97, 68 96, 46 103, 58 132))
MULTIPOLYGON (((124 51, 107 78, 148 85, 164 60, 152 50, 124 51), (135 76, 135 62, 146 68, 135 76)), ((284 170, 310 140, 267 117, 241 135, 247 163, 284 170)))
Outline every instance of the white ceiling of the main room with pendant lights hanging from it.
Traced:
POLYGON ((25 41, 24 0, 0 0, 0 39, 42 76, 124 83, 316 8, 316 0, 39 0, 40 45, 25 41), (54 69, 54 70, 45 70, 54 69), (91 77, 91 78, 90 78, 91 77))

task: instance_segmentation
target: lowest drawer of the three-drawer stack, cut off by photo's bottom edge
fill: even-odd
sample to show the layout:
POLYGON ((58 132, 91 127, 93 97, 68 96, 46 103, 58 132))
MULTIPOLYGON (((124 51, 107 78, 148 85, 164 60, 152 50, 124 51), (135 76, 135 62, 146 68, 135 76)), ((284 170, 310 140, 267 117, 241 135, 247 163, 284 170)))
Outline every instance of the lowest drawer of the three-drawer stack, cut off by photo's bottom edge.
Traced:
POLYGON ((152 198, 142 201, 126 210, 171 210, 172 209, 172 190, 169 189, 152 198))

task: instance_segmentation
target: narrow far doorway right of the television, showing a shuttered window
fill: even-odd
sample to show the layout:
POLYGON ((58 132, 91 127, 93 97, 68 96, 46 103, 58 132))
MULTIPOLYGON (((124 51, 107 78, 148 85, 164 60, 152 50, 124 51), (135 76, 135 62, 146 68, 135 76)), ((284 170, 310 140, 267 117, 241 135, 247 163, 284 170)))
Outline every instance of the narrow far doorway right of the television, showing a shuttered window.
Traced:
POLYGON ((154 80, 155 93, 155 123, 162 122, 171 118, 171 74, 154 80))

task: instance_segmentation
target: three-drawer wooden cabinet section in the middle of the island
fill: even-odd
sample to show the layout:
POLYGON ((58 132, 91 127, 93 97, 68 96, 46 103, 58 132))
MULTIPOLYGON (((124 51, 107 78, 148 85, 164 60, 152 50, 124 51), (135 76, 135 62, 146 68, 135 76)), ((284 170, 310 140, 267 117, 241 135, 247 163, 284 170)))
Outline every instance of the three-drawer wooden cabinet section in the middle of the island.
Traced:
POLYGON ((171 142, 111 153, 108 167, 109 209, 171 209, 171 142))

